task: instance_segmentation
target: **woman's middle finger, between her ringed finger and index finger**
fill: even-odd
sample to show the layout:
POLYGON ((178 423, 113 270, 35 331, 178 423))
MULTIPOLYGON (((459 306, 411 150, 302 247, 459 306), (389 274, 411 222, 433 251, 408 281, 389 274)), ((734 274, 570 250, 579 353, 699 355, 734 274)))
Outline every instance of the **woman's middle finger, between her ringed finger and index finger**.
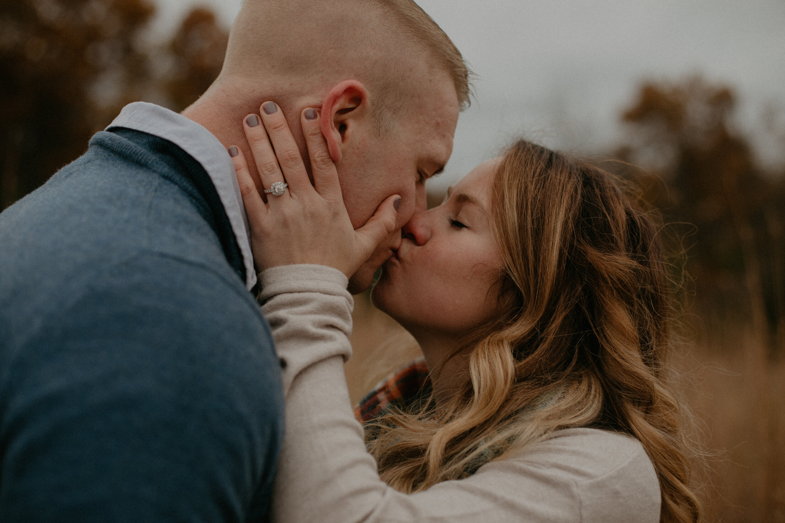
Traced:
POLYGON ((283 176, 289 183, 293 194, 298 191, 312 191, 311 180, 305 170, 305 163, 300 155, 300 147, 294 141, 294 136, 289 129, 283 111, 275 102, 261 104, 261 119, 265 122, 265 129, 276 151, 278 165, 283 171, 283 176))

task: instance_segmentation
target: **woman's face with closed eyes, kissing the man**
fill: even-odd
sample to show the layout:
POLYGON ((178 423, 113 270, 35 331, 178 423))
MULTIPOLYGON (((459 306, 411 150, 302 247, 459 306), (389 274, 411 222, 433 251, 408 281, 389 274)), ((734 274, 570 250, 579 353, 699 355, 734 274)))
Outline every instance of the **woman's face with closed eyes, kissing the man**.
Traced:
POLYGON ((491 289, 502 257, 491 234, 490 194, 498 159, 478 165, 442 205, 415 212, 374 287, 374 304, 415 337, 460 336, 497 312, 491 289))

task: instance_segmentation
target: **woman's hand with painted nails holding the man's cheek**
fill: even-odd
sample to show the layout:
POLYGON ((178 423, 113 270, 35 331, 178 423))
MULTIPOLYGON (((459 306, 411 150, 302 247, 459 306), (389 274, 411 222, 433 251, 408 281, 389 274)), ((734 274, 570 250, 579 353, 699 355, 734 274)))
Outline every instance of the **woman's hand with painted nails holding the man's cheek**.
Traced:
POLYGON ((257 269, 261 272, 280 265, 314 263, 334 267, 351 278, 395 230, 400 198, 387 198, 355 231, 341 196, 338 171, 322 136, 319 111, 309 107, 300 115, 313 185, 280 107, 265 102, 259 112, 261 118, 250 114, 243 120, 259 180, 251 177, 243 151, 229 147, 248 214, 257 269), (287 183, 288 187, 279 196, 268 192, 265 203, 261 191, 269 190, 276 182, 287 183))

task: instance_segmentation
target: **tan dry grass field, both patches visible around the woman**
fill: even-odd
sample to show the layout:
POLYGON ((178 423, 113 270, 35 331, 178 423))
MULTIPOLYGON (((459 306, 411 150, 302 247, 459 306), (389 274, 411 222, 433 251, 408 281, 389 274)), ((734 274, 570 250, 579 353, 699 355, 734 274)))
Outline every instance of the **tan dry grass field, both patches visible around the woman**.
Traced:
MULTIPOLYGON (((367 295, 355 298, 354 355, 345 369, 356 402, 419 349, 367 295)), ((707 521, 785 523, 785 347, 772 358, 754 329, 687 318, 673 365, 707 455, 696 474, 707 521)))

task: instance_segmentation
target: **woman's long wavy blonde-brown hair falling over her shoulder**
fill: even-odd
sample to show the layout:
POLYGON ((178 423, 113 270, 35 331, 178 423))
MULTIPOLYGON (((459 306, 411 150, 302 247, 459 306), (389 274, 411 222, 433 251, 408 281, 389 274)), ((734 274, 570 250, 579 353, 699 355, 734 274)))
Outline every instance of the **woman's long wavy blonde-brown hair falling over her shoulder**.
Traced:
POLYGON ((369 427, 382 479, 421 491, 553 430, 596 427, 641 441, 660 521, 701 521, 663 364, 674 314, 652 216, 603 170, 524 140, 498 166, 491 216, 501 312, 456 350, 469 352, 470 380, 447 405, 369 427))

